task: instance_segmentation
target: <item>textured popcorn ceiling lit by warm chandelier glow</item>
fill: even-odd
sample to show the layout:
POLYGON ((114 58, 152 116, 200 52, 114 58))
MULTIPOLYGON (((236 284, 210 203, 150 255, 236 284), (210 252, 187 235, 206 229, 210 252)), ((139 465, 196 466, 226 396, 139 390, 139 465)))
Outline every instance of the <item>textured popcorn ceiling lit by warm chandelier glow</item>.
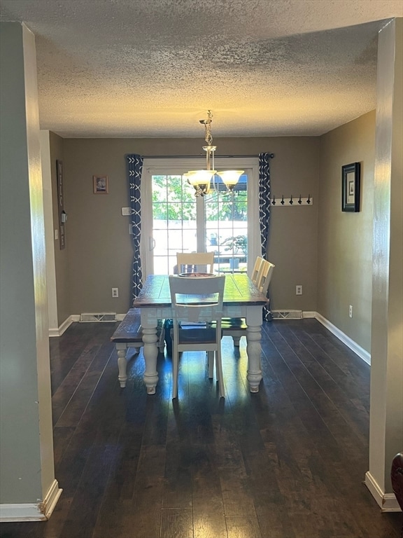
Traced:
POLYGON ((62 137, 322 135, 375 108, 402 0, 1 0, 36 35, 41 128, 62 137))

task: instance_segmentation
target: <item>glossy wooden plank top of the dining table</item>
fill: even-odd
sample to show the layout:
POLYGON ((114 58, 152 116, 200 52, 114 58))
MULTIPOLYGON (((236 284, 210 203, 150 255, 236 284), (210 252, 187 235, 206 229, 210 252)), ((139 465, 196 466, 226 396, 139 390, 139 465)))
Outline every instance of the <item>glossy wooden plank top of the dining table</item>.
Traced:
MULTIPOLYGON (((267 298, 250 280, 248 275, 234 273, 225 275, 224 305, 265 305, 267 298)), ((135 308, 171 306, 168 275, 149 275, 138 297, 135 308)))

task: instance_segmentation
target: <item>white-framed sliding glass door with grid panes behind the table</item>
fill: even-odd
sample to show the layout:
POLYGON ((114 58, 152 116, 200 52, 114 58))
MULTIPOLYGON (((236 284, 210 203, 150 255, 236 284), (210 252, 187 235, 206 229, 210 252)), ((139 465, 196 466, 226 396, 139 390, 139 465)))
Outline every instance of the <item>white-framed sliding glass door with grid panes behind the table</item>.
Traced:
POLYGON ((177 170, 172 161, 167 160, 163 166, 150 166, 147 162, 143 167, 143 272, 176 273, 176 252, 192 251, 213 251, 215 271, 246 272, 248 258, 254 261, 260 254, 256 241, 258 223, 256 226, 256 219, 248 218, 248 214, 258 214, 257 209, 251 211, 254 205, 257 208, 254 167, 244 167, 245 173, 233 194, 226 193, 222 182, 215 179, 208 195, 195 197, 194 189, 182 175, 191 163, 188 160, 185 167, 177 170))

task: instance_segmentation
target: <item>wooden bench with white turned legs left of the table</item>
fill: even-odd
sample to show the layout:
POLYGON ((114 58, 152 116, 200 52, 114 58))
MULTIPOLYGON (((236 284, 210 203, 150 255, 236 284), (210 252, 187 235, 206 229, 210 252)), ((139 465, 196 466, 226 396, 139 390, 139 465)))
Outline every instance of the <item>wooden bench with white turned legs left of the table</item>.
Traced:
MULTIPOLYGON (((158 347, 160 352, 164 352, 164 330, 163 325, 157 329, 157 336, 160 338, 158 347)), ((111 336, 111 342, 115 344, 118 352, 118 369, 120 387, 126 387, 127 381, 127 348, 134 347, 136 352, 143 346, 143 333, 141 331, 141 314, 139 308, 130 308, 125 318, 120 322, 118 329, 111 336)))

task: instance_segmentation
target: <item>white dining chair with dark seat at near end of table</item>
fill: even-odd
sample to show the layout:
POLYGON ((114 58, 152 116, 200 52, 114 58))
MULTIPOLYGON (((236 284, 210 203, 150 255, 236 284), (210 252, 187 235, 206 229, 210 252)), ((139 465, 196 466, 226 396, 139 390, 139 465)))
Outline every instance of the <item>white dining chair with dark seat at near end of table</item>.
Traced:
MULTIPOLYGON (((225 396, 221 362, 221 319, 224 287, 225 275, 194 278, 169 276, 172 312, 174 314, 172 398, 178 397, 179 353, 183 351, 206 351, 209 355, 214 354, 220 397, 225 396), (214 326, 210 326, 209 322, 214 322, 214 326), (195 325, 189 325, 189 323, 195 325)), ((210 361, 209 364, 211 364, 210 361)))

